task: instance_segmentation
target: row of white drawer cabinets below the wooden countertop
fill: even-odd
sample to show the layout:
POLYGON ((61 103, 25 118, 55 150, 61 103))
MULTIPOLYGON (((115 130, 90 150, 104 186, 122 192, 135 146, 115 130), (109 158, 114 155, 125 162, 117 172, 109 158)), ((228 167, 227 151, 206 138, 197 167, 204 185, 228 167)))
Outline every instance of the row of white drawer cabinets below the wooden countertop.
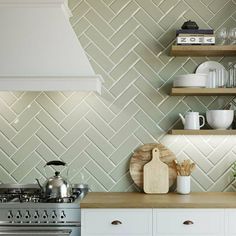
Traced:
POLYGON ((236 209, 81 209, 81 236, 236 236, 236 209))

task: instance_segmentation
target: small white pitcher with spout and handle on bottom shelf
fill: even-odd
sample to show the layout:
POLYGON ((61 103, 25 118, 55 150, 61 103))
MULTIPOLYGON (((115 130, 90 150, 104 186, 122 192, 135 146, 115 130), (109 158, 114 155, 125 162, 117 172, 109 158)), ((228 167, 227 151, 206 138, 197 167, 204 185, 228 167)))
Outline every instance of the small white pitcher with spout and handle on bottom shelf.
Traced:
POLYGON ((184 125, 184 129, 199 130, 205 125, 205 117, 199 115, 199 112, 187 112, 185 118, 180 113, 179 116, 184 125), (202 118, 202 124, 200 124, 200 118, 202 118))

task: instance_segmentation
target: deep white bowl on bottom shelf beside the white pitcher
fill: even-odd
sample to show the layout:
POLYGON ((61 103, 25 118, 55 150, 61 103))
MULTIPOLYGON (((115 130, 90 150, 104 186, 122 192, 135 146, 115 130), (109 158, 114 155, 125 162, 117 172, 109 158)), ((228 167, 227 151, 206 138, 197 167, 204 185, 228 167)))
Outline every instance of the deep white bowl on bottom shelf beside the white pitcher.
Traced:
POLYGON ((227 129, 233 122, 233 110, 210 110, 206 112, 207 123, 213 129, 227 129))

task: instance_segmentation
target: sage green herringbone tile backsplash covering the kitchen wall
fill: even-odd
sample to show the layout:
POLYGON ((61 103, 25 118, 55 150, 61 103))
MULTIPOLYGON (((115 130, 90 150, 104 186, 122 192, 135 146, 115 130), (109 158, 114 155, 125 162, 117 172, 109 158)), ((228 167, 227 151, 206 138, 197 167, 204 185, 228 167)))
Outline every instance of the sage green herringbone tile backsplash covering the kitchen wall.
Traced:
MULTIPOLYGON (((128 172, 132 152, 162 142, 179 159, 197 163, 194 191, 234 190, 234 136, 171 136, 178 113, 222 108, 232 97, 170 97, 173 77, 206 61, 170 57, 175 30, 186 20, 218 30, 236 25, 232 0, 69 0, 71 24, 94 70, 105 80, 93 93, 0 93, 0 180, 32 183, 61 159, 73 183, 94 191, 136 191, 128 172)), ((66 172, 64 172, 65 174, 66 172)))

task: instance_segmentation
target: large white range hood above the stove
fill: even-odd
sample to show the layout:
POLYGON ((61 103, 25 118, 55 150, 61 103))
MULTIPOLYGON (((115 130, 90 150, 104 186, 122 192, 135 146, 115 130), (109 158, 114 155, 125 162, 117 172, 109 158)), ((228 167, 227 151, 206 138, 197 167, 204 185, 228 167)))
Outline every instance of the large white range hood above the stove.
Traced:
POLYGON ((0 0, 1 91, 97 91, 67 0, 0 0))

